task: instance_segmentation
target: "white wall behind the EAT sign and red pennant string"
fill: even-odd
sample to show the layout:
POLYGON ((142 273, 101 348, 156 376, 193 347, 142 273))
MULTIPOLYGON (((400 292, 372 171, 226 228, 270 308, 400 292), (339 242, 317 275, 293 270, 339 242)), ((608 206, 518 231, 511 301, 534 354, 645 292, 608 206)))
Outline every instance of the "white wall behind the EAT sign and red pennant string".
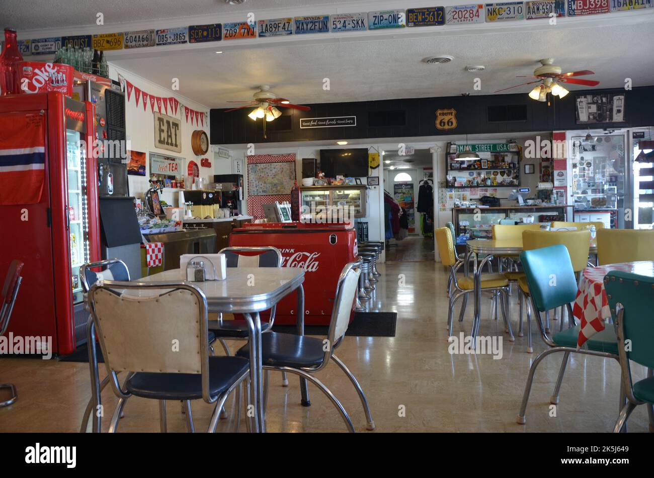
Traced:
MULTIPOLYGON (((124 76, 127 80, 129 80, 130 83, 132 83, 137 88, 145 90, 145 92, 148 93, 148 95, 152 94, 158 97, 175 97, 180 103, 185 104, 189 108, 192 108, 196 111, 205 111, 207 113, 209 112, 208 106, 195 103, 194 101, 190 101, 188 98, 176 94, 171 89, 162 88, 157 84, 154 84, 148 80, 145 80, 144 78, 141 78, 141 76, 133 74, 124 69, 115 67, 114 65, 109 63, 109 77, 112 80, 118 81, 118 73, 122 74, 122 76, 124 76)), ((143 100, 141 99, 139 101, 140 104, 137 106, 133 91, 131 93, 131 97, 129 101, 127 99, 127 93, 126 93, 125 101, 126 101, 125 104, 126 138, 131 142, 132 150, 144 151, 146 157, 146 161, 145 161, 146 176, 128 176, 129 194, 131 196, 137 197, 139 199, 143 199, 143 194, 150 187, 148 183, 148 179, 150 178, 150 152, 184 158, 184 169, 182 170, 184 176, 186 176, 186 165, 188 165, 188 161, 195 161, 200 169, 200 177, 213 180, 213 174, 214 174, 213 169, 216 163, 216 159, 213 157, 213 153, 211 153, 211 150, 209 150, 205 156, 196 156, 191 148, 191 135, 194 131, 196 131, 197 129, 203 129, 204 131, 207 132, 207 135, 209 135, 208 119, 205 121, 204 127, 197 126, 195 123, 191 125, 190 119, 188 123, 186 123, 184 110, 181 106, 177 110, 177 116, 175 116, 169 109, 168 116, 176 117, 180 119, 182 122, 182 128, 181 128, 182 152, 177 153, 175 151, 161 150, 159 148, 156 148, 154 143, 154 115, 150 110, 150 105, 148 104, 146 106, 146 110, 144 111, 143 100), (211 161, 212 163, 212 167, 211 168, 201 167, 200 166, 201 157, 208 157, 209 161, 211 161)), ((156 105, 155 105, 155 111, 156 111, 156 105)), ((163 189, 163 194, 161 199, 165 200, 165 202, 167 202, 168 204, 172 204, 173 206, 178 206, 177 191, 179 191, 179 189, 165 188, 163 189)))

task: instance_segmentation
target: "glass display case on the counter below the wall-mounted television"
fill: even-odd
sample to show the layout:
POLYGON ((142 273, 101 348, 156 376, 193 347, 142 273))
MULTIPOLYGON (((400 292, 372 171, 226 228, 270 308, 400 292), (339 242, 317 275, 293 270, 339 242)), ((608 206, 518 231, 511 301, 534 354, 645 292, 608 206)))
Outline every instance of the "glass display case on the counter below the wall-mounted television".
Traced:
POLYGON ((347 214, 352 211, 356 218, 366 217, 364 185, 301 186, 300 194, 303 210, 311 214, 323 208, 343 208, 347 214))

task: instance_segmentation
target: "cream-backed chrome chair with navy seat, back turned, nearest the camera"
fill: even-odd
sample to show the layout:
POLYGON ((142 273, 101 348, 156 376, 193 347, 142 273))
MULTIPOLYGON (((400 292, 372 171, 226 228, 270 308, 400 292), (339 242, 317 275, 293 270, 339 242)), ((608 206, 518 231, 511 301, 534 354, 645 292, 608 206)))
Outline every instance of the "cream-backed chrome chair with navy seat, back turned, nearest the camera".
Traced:
MULTIPOLYGON (((92 285, 88 304, 118 404, 109 425, 116 432, 129 397, 159 401, 166 432, 166 400, 216 404, 208 432, 215 432, 229 394, 249 377, 249 360, 210 357, 207 298, 194 285, 177 282, 103 281, 92 285), (121 387, 119 372, 128 372, 121 387)), ((192 421, 188 431, 194 432, 192 421)))

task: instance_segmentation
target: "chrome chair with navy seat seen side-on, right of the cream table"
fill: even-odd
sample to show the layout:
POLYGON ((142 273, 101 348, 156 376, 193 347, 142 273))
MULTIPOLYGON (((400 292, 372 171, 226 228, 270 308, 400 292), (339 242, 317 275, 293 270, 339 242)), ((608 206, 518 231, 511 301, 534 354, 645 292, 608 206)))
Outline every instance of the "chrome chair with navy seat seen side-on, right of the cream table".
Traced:
MULTIPOLYGON (((375 429, 375 422, 372 419, 366 395, 352 372, 334 354, 334 350, 343 342, 343 337, 349 325, 350 313, 354 305, 354 295, 356 294, 360 274, 360 261, 345 264, 345 267, 341 270, 326 341, 315 337, 279 334, 277 332, 269 332, 268 334, 262 335, 262 362, 264 364, 264 370, 266 372, 269 370, 289 372, 311 381, 334 404, 350 432, 354 432, 354 425, 347 411, 345 411, 345 408, 343 408, 343 405, 341 405, 341 402, 339 402, 336 396, 320 380, 314 377, 313 374, 325 368, 330 358, 332 358, 350 379, 358 393, 361 404, 364 407, 364 412, 366 413, 366 429, 375 429)), ((249 343, 241 347, 237 351, 236 356, 249 357, 249 347, 249 343)), ((265 407, 267 389, 264 393, 265 407)))

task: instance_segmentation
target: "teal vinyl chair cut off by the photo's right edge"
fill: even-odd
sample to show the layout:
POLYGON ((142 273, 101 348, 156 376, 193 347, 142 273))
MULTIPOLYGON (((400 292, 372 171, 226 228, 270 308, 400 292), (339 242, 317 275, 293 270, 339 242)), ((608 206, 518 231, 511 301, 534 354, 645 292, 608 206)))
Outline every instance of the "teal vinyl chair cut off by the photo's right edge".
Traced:
POLYGON ((618 342, 625 343, 618 353, 627 403, 620 402, 624 406, 613 432, 620 432, 634 408, 644 404, 649 415, 649 431, 654 432, 654 278, 614 271, 604 278, 604 285, 618 342), (630 361, 647 367, 647 378, 633 383, 630 361))

